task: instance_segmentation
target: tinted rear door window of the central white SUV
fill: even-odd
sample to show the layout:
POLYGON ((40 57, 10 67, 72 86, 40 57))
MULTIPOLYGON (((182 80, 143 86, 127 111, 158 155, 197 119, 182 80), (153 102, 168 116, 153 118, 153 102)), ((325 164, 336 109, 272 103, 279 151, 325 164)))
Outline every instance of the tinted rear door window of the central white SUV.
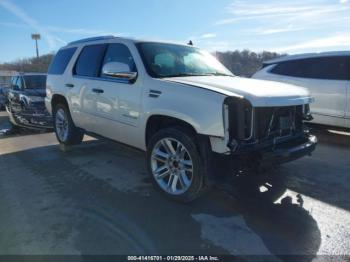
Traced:
POLYGON ((106 45, 89 45, 81 51, 73 70, 74 75, 97 77, 106 45))

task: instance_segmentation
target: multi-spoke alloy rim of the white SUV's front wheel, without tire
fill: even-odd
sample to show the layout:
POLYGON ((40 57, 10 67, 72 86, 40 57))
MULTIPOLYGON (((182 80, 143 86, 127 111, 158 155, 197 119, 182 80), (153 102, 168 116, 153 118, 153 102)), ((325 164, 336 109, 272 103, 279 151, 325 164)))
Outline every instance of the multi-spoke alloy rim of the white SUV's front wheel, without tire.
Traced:
POLYGON ((158 185, 169 194, 183 194, 191 186, 191 156, 185 146, 174 138, 158 141, 152 150, 151 168, 158 185))

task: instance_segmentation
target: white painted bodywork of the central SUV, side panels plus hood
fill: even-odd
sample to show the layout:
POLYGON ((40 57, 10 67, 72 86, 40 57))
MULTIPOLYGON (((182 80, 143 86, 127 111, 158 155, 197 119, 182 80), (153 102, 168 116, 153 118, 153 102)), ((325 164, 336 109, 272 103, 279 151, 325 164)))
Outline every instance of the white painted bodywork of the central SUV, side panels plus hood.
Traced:
POLYGON ((146 150, 146 125, 151 116, 174 117, 190 124, 198 134, 211 137, 212 149, 225 153, 223 103, 228 96, 247 99, 253 106, 290 106, 311 102, 305 89, 270 81, 239 77, 152 78, 146 72, 134 40, 110 40, 77 43, 63 75, 48 75, 46 106, 51 112, 53 95, 68 101, 74 124, 90 132, 146 150), (100 78, 78 77, 73 67, 84 46, 93 44, 125 44, 137 67, 135 83, 118 83, 100 78), (74 84, 73 88, 66 84, 74 84), (103 94, 92 93, 103 88, 103 94), (158 97, 150 92, 157 91, 158 97))

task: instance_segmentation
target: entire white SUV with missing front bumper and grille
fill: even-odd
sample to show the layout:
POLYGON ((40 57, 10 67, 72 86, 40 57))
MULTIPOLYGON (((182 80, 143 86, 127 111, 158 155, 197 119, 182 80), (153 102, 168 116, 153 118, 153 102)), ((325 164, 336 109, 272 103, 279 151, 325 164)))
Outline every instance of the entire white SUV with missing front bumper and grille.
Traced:
POLYGON ((96 37, 50 65, 46 107, 58 141, 97 134, 147 152, 154 184, 190 201, 218 177, 310 154, 308 92, 234 76, 188 45, 96 37))

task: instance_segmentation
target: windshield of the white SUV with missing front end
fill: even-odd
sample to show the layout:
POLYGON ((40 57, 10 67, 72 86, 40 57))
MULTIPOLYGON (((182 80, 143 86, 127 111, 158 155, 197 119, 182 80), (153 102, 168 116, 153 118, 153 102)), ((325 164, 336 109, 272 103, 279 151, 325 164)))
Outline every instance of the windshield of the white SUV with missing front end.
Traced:
POLYGON ((146 70, 152 77, 233 76, 210 53, 192 46, 139 43, 137 47, 146 70))

